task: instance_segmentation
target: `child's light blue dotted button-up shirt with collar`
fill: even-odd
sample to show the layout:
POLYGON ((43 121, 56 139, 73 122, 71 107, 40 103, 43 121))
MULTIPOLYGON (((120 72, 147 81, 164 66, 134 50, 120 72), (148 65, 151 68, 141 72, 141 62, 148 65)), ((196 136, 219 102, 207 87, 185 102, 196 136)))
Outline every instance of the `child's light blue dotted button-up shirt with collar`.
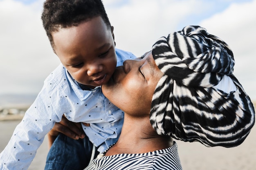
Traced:
MULTIPOLYGON (((130 52, 116 49, 117 66, 134 59, 130 52)), ((27 169, 42 144, 45 135, 63 114, 72 122, 86 122, 86 135, 99 152, 117 142, 124 113, 103 95, 101 88, 81 89, 63 65, 59 65, 45 80, 34 103, 18 124, 6 148, 0 153, 1 170, 27 169)))

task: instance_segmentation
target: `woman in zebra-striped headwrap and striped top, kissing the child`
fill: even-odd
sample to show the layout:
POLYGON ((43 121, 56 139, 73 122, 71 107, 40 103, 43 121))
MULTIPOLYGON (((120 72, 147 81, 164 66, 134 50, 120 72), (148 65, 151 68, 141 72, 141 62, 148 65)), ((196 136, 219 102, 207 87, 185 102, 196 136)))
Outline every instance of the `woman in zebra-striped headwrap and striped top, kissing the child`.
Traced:
POLYGON ((141 60, 117 68, 103 94, 125 112, 116 144, 90 169, 182 169, 171 136, 206 146, 241 144, 254 107, 232 75, 229 46, 199 26, 162 37, 141 60))

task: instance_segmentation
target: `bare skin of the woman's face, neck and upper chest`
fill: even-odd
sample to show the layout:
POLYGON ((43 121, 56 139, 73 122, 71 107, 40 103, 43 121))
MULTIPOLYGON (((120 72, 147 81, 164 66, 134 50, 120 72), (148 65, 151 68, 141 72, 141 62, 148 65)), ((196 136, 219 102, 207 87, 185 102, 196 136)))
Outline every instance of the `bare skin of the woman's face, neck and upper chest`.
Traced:
POLYGON ((103 94, 124 111, 120 137, 106 156, 148 153, 173 145, 172 138, 158 135, 149 120, 151 99, 162 75, 148 52, 143 59, 124 61, 124 66, 118 67, 110 81, 102 85, 103 94))

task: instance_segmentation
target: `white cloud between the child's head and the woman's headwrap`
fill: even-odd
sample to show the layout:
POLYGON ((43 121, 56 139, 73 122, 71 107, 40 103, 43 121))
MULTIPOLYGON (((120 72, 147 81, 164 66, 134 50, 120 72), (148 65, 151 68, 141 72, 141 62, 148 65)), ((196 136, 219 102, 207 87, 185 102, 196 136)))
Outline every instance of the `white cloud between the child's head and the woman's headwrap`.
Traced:
POLYGON ((117 48, 139 56, 150 50, 159 37, 177 31, 180 21, 191 13, 198 13, 204 4, 195 3, 195 0, 130 0, 117 8, 113 3, 106 3, 105 7, 115 28, 117 48))

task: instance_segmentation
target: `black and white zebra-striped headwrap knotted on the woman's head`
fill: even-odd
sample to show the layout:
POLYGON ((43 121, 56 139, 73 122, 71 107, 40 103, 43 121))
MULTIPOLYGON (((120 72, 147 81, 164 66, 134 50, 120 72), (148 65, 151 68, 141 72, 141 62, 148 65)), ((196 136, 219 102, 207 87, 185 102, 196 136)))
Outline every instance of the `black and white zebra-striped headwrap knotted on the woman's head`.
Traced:
POLYGON ((206 146, 234 147, 245 140, 255 111, 232 74, 234 57, 224 41, 200 26, 186 26, 160 38, 152 54, 164 73, 150 111, 159 135, 206 146), (231 79, 235 90, 215 87, 224 77, 231 79))

